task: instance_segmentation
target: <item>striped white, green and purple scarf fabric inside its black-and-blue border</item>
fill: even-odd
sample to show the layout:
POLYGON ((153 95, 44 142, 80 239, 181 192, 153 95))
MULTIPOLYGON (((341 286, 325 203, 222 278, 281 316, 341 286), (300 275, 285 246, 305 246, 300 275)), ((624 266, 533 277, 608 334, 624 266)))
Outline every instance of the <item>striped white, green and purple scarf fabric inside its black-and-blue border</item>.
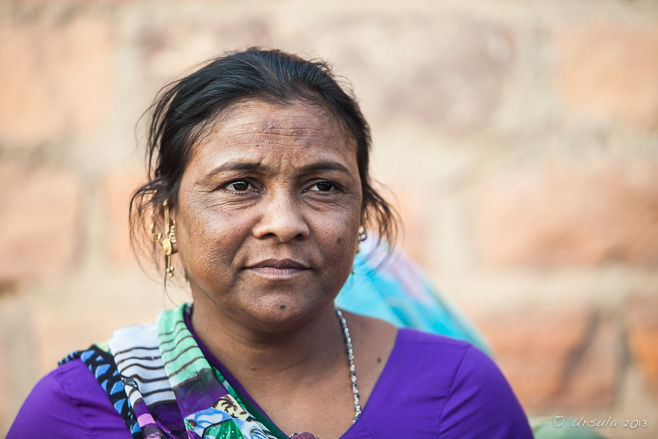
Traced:
MULTIPOLYGON (((122 328, 108 345, 144 438, 275 439, 213 369, 185 325, 189 305, 163 311, 155 323, 122 328), (178 405, 185 431, 161 422, 178 405)), ((277 432, 279 433, 279 432, 277 432)), ((285 436, 283 436, 285 437, 285 436)))

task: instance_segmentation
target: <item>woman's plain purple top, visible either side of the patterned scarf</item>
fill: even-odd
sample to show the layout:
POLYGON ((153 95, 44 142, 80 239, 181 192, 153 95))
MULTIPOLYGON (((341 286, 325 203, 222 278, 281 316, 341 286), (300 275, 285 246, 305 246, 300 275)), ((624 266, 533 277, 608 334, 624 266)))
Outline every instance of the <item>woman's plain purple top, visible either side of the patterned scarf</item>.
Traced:
MULTIPOLYGON (((256 404, 186 323, 208 362, 256 404)), ((34 387, 7 439, 28 437, 132 439, 107 393, 81 360, 58 367, 34 387)), ((361 417, 341 437, 533 436, 521 405, 488 356, 461 341, 399 329, 361 417)))

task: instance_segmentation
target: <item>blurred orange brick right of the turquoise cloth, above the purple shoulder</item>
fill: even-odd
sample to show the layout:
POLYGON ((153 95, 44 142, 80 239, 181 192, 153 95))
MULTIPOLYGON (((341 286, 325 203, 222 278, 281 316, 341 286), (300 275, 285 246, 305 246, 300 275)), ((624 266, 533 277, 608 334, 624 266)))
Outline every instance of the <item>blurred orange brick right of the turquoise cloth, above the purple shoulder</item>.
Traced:
POLYGON ((582 348, 589 318, 585 307, 474 316, 527 409, 550 404, 560 395, 565 366, 582 348))

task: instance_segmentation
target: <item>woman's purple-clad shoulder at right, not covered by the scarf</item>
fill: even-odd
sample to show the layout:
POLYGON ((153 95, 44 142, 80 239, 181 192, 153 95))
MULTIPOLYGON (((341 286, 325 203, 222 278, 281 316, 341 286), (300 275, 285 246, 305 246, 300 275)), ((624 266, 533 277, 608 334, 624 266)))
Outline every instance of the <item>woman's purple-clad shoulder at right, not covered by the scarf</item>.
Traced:
POLYGON ((386 437, 385 428, 375 430, 391 416, 409 420, 416 438, 532 437, 521 405, 486 354, 411 329, 398 331, 362 420, 375 437, 386 437))

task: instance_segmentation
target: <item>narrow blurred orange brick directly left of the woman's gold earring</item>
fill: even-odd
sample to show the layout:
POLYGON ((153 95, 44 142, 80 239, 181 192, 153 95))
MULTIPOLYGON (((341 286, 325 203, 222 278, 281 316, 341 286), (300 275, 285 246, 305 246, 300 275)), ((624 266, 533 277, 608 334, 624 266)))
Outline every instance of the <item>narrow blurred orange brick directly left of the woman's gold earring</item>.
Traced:
POLYGON ((108 255, 119 265, 136 262, 130 247, 128 213, 133 192, 144 182, 144 171, 138 168, 114 170, 102 182, 108 255))

